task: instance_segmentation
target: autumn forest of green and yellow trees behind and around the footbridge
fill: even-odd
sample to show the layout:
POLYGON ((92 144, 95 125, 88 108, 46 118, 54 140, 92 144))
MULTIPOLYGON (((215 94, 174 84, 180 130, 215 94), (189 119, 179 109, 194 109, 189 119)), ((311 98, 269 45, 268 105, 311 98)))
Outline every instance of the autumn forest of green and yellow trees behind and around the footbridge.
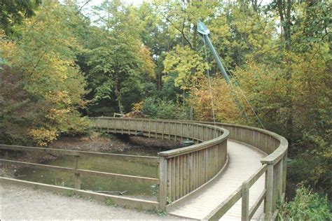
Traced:
POLYGON ((0 143, 47 146, 133 110, 264 128, 289 141, 279 219, 331 218, 331 1, 92 2, 0 1, 0 143))

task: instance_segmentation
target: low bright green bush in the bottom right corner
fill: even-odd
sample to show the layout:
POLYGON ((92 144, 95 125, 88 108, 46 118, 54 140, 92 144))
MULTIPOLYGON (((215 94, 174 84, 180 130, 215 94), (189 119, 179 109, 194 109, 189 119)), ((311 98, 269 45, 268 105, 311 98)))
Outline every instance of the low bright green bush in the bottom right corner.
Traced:
POLYGON ((331 220, 327 197, 305 187, 296 190, 296 197, 279 208, 278 220, 331 220))

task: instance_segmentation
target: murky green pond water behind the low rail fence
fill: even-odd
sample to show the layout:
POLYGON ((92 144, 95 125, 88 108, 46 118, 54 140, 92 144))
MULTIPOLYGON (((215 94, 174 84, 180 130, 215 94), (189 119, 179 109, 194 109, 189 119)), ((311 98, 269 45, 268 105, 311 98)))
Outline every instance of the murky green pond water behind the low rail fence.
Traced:
MULTIPOLYGON (((121 154, 157 156, 160 148, 130 148, 121 154)), ((113 151, 114 152, 114 151, 113 151)), ((48 160, 42 164, 74 167, 73 156, 62 156, 48 160)), ((106 157, 80 157, 79 169, 121 173, 132 176, 158 178, 158 164, 147 162, 131 162, 123 159, 107 159, 106 157)), ((46 169, 23 168, 16 174, 20 180, 37 183, 74 187, 74 174, 46 169)), ((156 187, 143 182, 133 182, 127 178, 103 178, 99 176, 81 176, 81 190, 125 192, 124 196, 141 199, 156 199, 156 187)))

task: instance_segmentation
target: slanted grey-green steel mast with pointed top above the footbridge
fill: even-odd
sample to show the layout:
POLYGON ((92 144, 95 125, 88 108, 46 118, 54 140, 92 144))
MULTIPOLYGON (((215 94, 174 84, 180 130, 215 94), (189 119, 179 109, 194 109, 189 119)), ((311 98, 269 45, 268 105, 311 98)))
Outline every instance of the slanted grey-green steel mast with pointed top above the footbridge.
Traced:
MULTIPOLYGON (((230 78, 229 78, 228 74, 226 73, 225 69, 223 68, 221 59, 220 59, 218 53, 216 52, 216 50, 214 49, 214 46, 212 45, 212 42, 209 38, 210 30, 205 26, 205 24, 203 22, 198 21, 197 22, 197 31, 198 31, 198 34, 200 35, 200 37, 203 39, 203 41, 205 41, 205 43, 207 43, 207 45, 209 46, 209 49, 211 50, 212 55, 213 55, 214 59, 216 60, 216 65, 218 66, 219 70, 221 71, 223 78, 225 78, 228 85, 230 85, 230 87, 232 87, 232 85, 230 83, 230 78)), ((243 108, 242 104, 240 103, 239 99, 237 98, 236 93, 235 92, 233 92, 233 93, 235 95, 235 102, 236 102, 237 106, 239 106, 240 110, 242 111, 242 115, 248 121, 247 113, 244 111, 244 108, 243 108)))

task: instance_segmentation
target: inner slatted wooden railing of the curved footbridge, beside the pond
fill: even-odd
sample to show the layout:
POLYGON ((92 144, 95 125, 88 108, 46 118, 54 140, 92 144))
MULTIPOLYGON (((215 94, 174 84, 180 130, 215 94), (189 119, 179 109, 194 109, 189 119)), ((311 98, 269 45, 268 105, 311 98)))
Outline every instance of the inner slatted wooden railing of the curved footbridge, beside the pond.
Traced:
POLYGON ((90 117, 90 127, 120 134, 195 142, 185 148, 159 153, 159 203, 179 204, 216 176, 227 160, 228 131, 198 122, 115 117, 90 117))

